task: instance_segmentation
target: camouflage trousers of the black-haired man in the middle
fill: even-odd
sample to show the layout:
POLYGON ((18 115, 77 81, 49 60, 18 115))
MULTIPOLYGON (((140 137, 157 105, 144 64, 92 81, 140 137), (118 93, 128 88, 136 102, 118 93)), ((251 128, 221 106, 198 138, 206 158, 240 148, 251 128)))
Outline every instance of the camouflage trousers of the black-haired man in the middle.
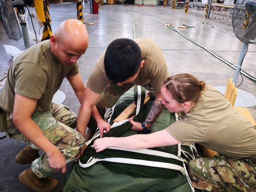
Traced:
MULTIPOLYGON (((100 99, 96 104, 98 112, 100 113, 102 118, 104 117, 106 108, 112 108, 116 104, 118 99, 133 86, 134 84, 130 83, 123 84, 122 86, 118 86, 116 83, 110 83, 105 87, 104 91, 100 95, 100 99)), ((149 90, 152 95, 155 95, 150 85, 147 84, 143 87, 149 90)), ((97 129, 97 123, 94 118, 90 118, 88 128, 92 130, 97 129)))

